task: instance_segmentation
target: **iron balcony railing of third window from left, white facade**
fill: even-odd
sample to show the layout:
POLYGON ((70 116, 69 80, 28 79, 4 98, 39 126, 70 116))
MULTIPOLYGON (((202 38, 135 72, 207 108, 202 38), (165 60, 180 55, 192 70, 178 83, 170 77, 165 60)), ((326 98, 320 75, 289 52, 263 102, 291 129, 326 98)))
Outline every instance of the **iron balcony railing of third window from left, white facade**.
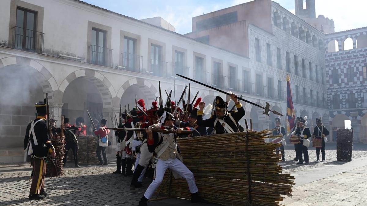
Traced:
POLYGON ((118 67, 122 70, 126 71, 134 71, 142 73, 142 65, 143 65, 143 57, 136 55, 136 54, 130 54, 127 52, 124 52, 120 55, 121 58, 121 66, 118 67))

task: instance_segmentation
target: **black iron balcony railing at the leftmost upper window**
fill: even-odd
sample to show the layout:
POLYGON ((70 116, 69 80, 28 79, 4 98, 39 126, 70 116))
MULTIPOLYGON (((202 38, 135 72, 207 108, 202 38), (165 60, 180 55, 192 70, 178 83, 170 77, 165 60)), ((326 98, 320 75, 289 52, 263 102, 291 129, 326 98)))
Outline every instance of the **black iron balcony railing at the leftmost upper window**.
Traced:
POLYGON ((14 26, 11 47, 30 52, 43 53, 44 33, 14 26))

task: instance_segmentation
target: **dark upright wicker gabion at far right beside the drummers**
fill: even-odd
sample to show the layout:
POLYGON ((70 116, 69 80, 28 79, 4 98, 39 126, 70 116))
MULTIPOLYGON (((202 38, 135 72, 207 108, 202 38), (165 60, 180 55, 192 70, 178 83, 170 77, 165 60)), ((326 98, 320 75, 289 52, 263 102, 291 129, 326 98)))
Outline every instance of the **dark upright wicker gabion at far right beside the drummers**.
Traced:
POLYGON ((337 129, 337 161, 352 161, 353 129, 337 129))

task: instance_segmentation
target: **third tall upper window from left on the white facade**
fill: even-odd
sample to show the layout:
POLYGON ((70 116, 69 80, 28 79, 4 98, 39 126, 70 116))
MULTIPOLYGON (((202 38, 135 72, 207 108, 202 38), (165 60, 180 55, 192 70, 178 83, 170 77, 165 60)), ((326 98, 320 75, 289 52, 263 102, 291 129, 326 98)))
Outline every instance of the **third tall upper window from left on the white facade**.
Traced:
POLYGON ((135 70, 135 64, 137 61, 136 55, 136 39, 124 36, 124 53, 123 57, 123 66, 129 70, 135 70))

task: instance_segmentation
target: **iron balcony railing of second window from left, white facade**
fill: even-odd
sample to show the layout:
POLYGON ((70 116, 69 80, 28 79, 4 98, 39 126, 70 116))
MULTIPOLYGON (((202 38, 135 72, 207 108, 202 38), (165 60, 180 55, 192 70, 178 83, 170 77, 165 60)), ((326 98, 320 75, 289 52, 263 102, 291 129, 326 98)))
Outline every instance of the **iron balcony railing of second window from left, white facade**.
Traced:
POLYGON ((97 47, 96 45, 90 45, 88 47, 88 54, 89 54, 88 63, 94 65, 112 67, 113 49, 105 47, 97 47))

